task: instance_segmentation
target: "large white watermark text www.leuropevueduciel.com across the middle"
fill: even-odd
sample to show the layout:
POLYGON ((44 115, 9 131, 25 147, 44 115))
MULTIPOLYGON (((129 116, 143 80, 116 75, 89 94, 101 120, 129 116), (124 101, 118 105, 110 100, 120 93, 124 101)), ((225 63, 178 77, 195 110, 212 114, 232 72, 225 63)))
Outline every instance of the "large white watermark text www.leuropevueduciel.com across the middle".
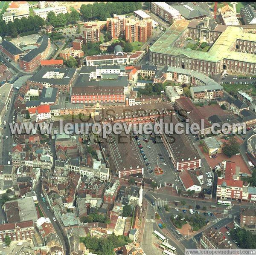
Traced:
POLYGON ((186 120, 184 123, 165 123, 163 119, 159 119, 155 123, 125 123, 125 122, 116 122, 116 123, 63 123, 63 120, 59 120, 58 125, 47 122, 35 122, 35 123, 9 123, 10 130, 12 135, 20 135, 24 132, 29 135, 37 133, 37 130, 41 132, 42 135, 58 135, 58 134, 67 134, 67 135, 89 135, 93 133, 94 135, 102 134, 102 138, 106 138, 107 135, 115 134, 120 135, 125 132, 126 135, 129 135, 130 132, 134 132, 137 135, 188 135, 189 132, 192 135, 207 135, 213 134, 218 135, 220 133, 224 135, 228 134, 246 134, 246 124, 241 123, 213 123, 210 128, 205 127, 205 120, 201 119, 201 123, 189 123, 189 120, 186 120))

